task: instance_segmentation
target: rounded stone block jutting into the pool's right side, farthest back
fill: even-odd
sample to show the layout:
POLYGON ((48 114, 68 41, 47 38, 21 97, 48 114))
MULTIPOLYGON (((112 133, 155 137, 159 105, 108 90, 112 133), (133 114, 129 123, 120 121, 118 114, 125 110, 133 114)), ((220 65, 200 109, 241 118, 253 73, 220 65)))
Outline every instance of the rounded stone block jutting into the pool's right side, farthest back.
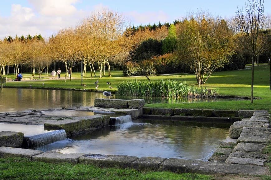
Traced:
POLYGON ((236 121, 230 127, 231 138, 238 138, 244 127, 269 127, 269 123, 263 122, 250 122, 250 121, 236 121))

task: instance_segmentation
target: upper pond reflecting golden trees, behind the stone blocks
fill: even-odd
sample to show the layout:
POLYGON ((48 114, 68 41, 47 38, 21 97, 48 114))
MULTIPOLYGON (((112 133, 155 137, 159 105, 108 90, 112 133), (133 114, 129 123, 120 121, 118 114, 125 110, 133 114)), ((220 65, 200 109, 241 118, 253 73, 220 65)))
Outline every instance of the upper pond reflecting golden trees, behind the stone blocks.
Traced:
POLYGON ((33 109, 55 109, 61 107, 93 106, 95 98, 135 99, 144 98, 145 103, 194 103, 229 101, 237 99, 226 98, 181 98, 169 100, 155 97, 120 97, 114 94, 104 97, 102 92, 3 88, 0 90, 0 112, 30 111, 33 109))

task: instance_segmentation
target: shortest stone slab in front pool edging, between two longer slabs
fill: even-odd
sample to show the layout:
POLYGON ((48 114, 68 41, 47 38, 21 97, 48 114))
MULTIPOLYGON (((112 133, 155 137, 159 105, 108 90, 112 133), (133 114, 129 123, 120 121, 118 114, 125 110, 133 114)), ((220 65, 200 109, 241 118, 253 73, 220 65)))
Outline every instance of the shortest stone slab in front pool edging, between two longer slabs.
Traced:
POLYGON ((158 157, 141 157, 136 159, 132 163, 132 168, 141 170, 141 169, 152 169, 157 170, 160 169, 160 164, 166 160, 165 158, 158 157))

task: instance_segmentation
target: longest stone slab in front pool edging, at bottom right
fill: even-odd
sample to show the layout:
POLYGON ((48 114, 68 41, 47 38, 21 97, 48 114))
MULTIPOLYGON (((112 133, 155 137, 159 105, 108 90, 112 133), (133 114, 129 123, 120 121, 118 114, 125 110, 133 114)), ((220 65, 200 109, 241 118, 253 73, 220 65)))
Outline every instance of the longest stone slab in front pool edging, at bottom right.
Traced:
POLYGON ((161 163, 163 170, 178 173, 202 173, 202 174, 253 174, 264 175, 269 173, 268 168, 257 165, 226 164, 215 161, 191 161, 184 159, 166 159, 161 163))

